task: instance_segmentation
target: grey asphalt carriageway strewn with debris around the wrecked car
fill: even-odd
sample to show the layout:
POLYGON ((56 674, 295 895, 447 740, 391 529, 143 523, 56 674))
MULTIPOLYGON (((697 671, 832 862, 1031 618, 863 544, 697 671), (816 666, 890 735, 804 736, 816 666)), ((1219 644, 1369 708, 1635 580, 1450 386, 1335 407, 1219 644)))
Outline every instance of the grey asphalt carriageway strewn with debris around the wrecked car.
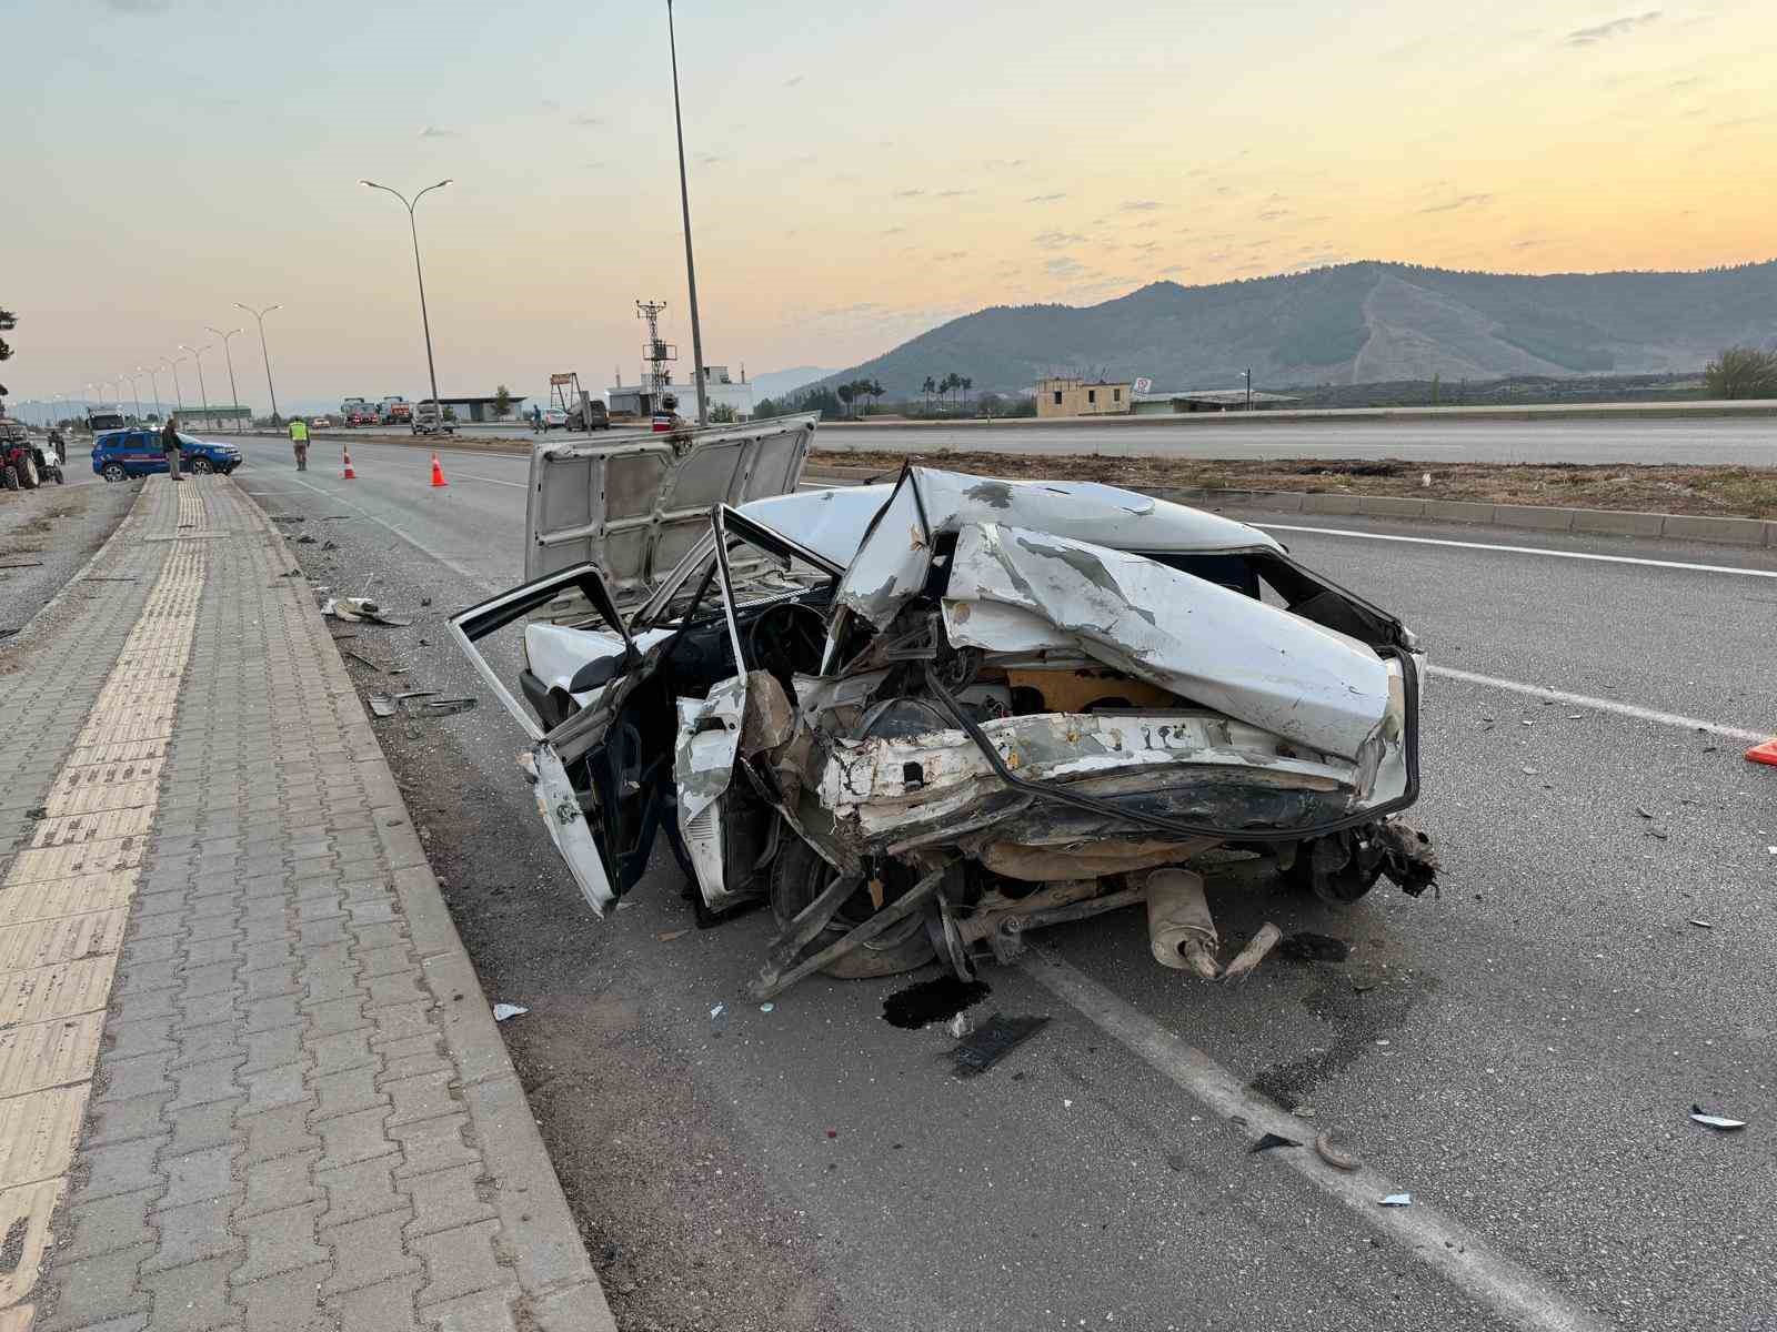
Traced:
MULTIPOLYGON (((236 478, 316 538, 311 581, 416 616, 339 627, 403 671, 348 661, 366 691, 483 693, 442 620, 517 581, 524 460, 442 460, 434 490, 425 451, 366 444, 341 481, 249 444, 236 478)), ((1155 966, 1134 913, 1052 931, 977 1009, 1050 1025, 970 1082, 880 1021, 903 982, 745 1002, 769 922, 689 929, 665 854, 594 920, 492 698, 377 723, 490 998, 531 1007, 506 1039, 626 1332, 1770 1327, 1777 769, 1738 735, 1777 730, 1777 554, 1267 526, 1464 673, 1427 687, 1439 893, 1219 890, 1224 938, 1354 945, 1244 987, 1155 966), (1279 1106, 1365 1174, 1249 1154, 1279 1106)))

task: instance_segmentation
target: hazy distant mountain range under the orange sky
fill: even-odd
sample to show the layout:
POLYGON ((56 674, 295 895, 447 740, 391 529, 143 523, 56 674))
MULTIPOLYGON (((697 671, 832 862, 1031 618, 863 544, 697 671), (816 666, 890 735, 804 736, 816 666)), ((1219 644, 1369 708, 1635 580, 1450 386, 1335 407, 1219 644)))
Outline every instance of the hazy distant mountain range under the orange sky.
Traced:
MULTIPOLYGON (((928 375, 974 392, 1050 373, 1146 377, 1155 391, 1271 389, 1505 375, 1701 369, 1724 346, 1777 345, 1777 261, 1695 274, 1519 277, 1347 263, 1215 286, 1151 282, 1100 305, 993 305, 825 380, 890 398, 928 375)), ((764 377, 761 377, 762 380, 764 377)))

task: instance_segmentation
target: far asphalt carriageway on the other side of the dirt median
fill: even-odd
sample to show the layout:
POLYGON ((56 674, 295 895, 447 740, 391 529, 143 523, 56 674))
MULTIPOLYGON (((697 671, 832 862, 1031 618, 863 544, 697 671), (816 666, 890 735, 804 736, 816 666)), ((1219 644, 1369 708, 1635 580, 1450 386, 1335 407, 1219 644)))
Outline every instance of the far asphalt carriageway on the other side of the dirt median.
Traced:
POLYGON ((1178 458, 1411 458, 1777 465, 1777 417, 1670 421, 1120 421, 1048 426, 839 426, 823 449, 1112 453, 1178 458))

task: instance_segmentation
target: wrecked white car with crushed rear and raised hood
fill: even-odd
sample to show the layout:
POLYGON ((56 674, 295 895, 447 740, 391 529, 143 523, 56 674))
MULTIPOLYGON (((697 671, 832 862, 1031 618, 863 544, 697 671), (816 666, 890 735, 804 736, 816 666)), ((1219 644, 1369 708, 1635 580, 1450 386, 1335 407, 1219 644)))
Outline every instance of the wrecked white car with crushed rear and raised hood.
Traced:
POLYGON ((538 446, 528 583, 451 620, 602 915, 657 833, 759 993, 1146 902, 1217 975, 1194 863, 1418 893, 1420 654, 1265 533, 1128 490, 906 467, 798 490, 814 417, 538 446), (482 643, 519 620, 521 703, 482 643))

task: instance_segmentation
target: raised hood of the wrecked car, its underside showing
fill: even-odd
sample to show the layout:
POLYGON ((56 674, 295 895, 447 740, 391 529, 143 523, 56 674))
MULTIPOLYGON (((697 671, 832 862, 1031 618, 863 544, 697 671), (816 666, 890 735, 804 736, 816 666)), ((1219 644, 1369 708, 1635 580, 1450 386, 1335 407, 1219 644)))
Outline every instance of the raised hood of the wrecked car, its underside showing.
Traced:
POLYGON ((592 563, 618 606, 643 599, 709 531, 713 504, 796 490, 817 419, 784 416, 633 442, 537 444, 524 577, 592 563))

